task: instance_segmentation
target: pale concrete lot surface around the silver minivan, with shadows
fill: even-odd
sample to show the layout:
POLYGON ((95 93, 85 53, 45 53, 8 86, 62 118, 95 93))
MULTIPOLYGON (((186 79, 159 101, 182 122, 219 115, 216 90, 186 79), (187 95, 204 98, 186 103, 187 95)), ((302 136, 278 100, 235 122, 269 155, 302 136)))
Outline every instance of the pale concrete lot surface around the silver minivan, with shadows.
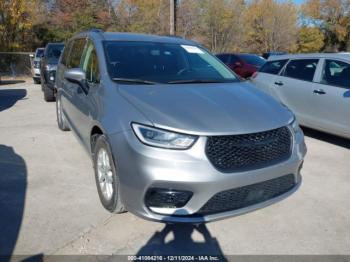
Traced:
POLYGON ((111 215, 88 155, 29 80, 0 86, 0 254, 350 254, 350 140, 306 130, 303 184, 195 228, 111 215))

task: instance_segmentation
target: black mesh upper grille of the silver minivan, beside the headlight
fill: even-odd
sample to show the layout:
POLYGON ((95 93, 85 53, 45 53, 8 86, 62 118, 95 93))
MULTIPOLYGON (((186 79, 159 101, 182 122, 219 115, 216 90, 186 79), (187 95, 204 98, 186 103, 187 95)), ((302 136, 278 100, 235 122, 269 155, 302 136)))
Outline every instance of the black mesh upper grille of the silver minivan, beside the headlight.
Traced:
POLYGON ((290 157, 292 137, 288 127, 232 136, 211 136, 206 155, 221 172, 247 171, 273 165, 290 157))

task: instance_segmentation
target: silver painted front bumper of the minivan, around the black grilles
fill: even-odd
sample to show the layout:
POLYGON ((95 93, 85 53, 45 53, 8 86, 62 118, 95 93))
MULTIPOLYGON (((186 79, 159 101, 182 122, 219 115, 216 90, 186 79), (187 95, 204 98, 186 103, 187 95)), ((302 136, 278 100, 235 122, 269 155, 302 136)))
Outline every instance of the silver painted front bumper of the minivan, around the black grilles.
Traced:
POLYGON ((292 194, 301 184, 300 168, 306 154, 302 132, 294 134, 291 157, 279 164, 256 170, 221 173, 205 154, 206 137, 200 137, 189 150, 168 150, 142 144, 130 130, 109 136, 121 185, 121 198, 127 210, 146 219, 163 222, 202 223, 231 217, 277 202, 292 194), (196 216, 214 195, 234 188, 293 174, 295 186, 278 197, 244 208, 196 216), (181 208, 157 208, 145 204, 150 188, 193 193, 181 208))

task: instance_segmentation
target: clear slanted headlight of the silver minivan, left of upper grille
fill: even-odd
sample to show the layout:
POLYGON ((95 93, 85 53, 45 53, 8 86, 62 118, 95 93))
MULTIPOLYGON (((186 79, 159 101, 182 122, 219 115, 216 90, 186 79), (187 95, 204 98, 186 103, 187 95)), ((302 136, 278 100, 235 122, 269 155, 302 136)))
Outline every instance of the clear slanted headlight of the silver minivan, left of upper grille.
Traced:
POLYGON ((188 149, 197 139, 196 136, 175 133, 136 123, 132 123, 131 126, 137 138, 149 146, 169 149, 188 149))

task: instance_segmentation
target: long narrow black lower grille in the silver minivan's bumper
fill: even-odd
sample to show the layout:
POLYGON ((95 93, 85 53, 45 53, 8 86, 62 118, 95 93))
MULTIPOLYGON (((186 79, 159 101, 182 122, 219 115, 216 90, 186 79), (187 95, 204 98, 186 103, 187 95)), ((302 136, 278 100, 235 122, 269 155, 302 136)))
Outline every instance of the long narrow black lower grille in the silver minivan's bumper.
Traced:
POLYGON ((289 174, 257 184, 222 191, 214 195, 196 215, 209 215, 248 207, 280 196, 294 186, 294 175, 289 174))

